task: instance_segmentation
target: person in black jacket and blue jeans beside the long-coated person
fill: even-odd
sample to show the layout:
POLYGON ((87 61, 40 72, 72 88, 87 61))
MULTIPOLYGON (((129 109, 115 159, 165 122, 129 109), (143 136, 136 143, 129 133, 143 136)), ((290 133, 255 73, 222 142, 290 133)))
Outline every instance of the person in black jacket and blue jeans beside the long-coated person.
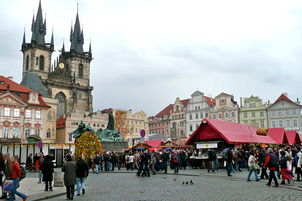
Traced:
POLYGON ((75 176, 77 177, 77 195, 80 194, 80 188, 82 186, 82 194, 85 194, 85 177, 88 177, 89 174, 89 169, 87 163, 82 160, 82 156, 78 157, 78 162, 77 162, 77 171, 75 171, 75 176), (81 186, 80 186, 81 184, 81 186))

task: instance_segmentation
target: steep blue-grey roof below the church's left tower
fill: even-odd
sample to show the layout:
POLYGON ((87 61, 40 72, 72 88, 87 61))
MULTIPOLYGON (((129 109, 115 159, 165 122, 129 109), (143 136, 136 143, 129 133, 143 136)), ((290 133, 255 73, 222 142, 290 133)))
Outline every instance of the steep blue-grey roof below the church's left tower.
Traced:
POLYGON ((20 84, 38 93, 41 93, 43 97, 49 97, 39 75, 36 73, 26 73, 20 84))

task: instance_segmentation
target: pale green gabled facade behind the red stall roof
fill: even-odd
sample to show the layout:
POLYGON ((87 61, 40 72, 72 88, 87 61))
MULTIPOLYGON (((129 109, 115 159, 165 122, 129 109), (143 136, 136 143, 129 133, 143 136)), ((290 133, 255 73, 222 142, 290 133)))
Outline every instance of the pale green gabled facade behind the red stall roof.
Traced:
POLYGON ((262 103, 262 99, 252 95, 249 98, 244 98, 244 105, 242 105, 242 98, 240 98, 240 105, 241 124, 257 122, 260 127, 267 128, 266 106, 262 103))

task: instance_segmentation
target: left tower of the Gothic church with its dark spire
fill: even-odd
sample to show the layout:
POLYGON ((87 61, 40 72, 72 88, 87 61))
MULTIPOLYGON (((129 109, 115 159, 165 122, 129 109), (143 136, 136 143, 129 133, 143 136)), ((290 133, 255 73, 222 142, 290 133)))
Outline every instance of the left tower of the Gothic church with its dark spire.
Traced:
POLYGON ((47 79, 50 72, 51 54, 54 51, 53 33, 50 43, 45 43, 46 35, 46 17, 43 22, 41 1, 37 17, 33 16, 31 42, 26 43, 25 30, 23 35, 22 49, 23 52, 23 73, 24 78, 27 72, 37 73, 42 79, 47 79))

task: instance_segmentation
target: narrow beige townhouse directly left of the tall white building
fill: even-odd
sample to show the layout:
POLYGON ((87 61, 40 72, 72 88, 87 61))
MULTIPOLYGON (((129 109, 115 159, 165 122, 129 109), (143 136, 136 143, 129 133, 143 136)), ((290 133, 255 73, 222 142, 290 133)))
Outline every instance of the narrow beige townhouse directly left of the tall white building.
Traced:
POLYGON ((170 136, 172 139, 185 137, 185 109, 189 99, 176 98, 173 109, 170 111, 170 136))

